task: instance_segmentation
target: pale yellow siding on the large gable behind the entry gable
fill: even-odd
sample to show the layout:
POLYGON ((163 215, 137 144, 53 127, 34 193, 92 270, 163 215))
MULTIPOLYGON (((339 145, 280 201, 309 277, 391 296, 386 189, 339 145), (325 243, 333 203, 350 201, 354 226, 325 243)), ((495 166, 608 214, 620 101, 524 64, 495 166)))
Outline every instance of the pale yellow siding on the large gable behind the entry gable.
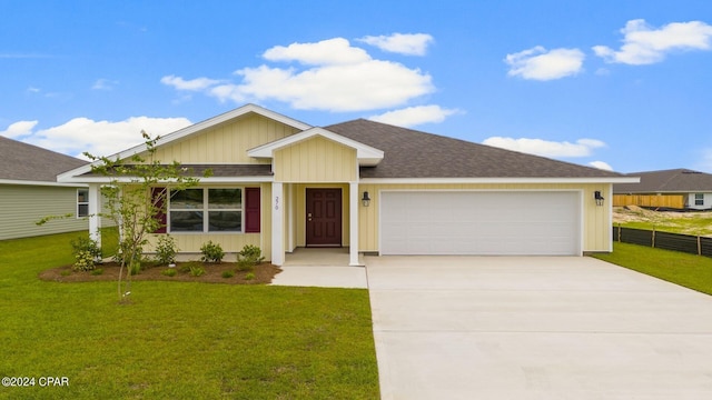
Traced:
POLYGON ((247 156, 247 150, 299 132, 298 129, 258 114, 246 114, 217 127, 171 142, 156 150, 164 162, 269 163, 247 156))

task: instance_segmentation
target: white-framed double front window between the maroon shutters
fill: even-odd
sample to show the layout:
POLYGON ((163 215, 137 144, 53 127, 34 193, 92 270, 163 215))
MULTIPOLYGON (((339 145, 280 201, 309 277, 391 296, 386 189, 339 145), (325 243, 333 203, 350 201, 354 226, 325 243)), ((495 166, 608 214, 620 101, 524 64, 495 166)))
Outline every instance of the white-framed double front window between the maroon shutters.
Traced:
POLYGON ((171 190, 171 232, 241 232, 243 189, 171 190))

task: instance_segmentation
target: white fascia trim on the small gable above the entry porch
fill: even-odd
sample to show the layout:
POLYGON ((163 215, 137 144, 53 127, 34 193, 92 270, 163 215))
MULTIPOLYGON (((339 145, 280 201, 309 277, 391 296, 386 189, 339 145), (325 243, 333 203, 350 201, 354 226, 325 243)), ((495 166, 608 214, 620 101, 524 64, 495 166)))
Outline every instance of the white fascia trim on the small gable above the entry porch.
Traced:
POLYGON ((376 166, 378 164, 378 162, 380 162, 380 160, 383 160, 383 150, 378 150, 368 144, 364 144, 359 141, 334 133, 324 128, 312 128, 305 130, 304 132, 275 140, 274 142, 248 150, 247 154, 255 158, 273 158, 275 151, 289 146, 294 146, 304 140, 312 139, 316 136, 320 136, 339 144, 344 144, 348 148, 355 149, 356 158, 359 160, 360 166, 376 166))

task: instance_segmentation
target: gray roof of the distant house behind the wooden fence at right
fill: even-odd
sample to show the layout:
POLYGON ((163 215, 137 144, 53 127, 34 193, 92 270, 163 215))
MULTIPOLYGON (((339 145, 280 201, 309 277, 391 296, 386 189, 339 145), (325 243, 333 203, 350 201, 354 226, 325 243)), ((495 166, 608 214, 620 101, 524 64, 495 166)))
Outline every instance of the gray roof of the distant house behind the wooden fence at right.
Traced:
POLYGON ((627 173, 640 177, 640 183, 615 183, 614 193, 712 192, 712 174, 678 168, 627 173))

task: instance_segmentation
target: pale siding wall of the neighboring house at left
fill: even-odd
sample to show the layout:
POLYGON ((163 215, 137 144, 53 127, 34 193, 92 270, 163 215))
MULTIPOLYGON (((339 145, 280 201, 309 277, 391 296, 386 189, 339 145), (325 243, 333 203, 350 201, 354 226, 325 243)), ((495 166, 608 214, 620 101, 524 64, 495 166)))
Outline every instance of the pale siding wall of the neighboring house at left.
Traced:
POLYGON ((72 232, 89 229, 87 219, 77 216, 77 188, 0 184, 0 240, 72 232), (61 218, 37 226, 48 216, 61 218))

